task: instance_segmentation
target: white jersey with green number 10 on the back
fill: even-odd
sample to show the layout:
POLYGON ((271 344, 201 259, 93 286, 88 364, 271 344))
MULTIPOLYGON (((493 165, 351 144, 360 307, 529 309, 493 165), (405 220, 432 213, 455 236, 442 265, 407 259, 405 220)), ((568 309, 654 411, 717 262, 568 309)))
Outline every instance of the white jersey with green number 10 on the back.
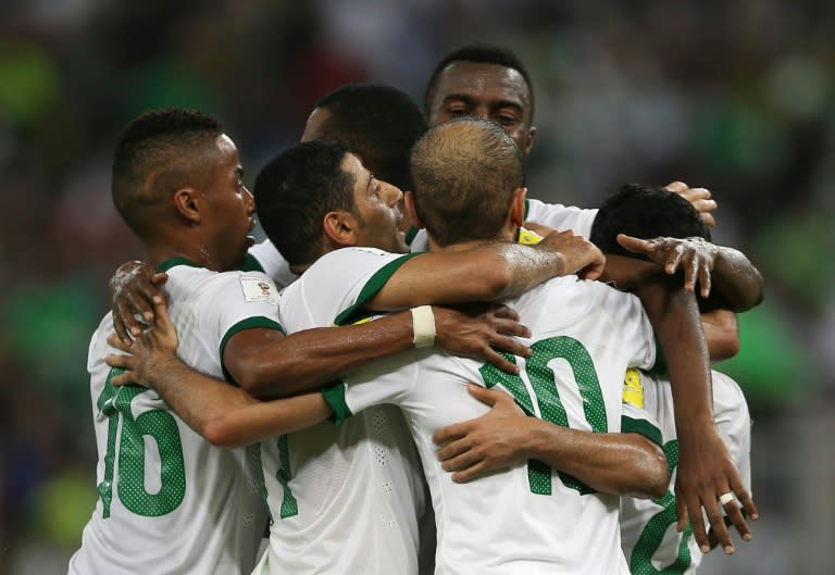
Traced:
POLYGON ((414 350, 346 376, 325 398, 337 421, 381 403, 403 410, 432 492, 436 573, 626 574, 616 496, 538 461, 456 484, 436 459, 435 432, 488 410, 469 395, 468 382, 503 389, 528 414, 557 425, 660 440, 645 412, 622 403, 626 367, 649 367, 656 358, 637 298, 566 276, 507 303, 533 332, 533 357, 515 359, 520 375, 414 350))

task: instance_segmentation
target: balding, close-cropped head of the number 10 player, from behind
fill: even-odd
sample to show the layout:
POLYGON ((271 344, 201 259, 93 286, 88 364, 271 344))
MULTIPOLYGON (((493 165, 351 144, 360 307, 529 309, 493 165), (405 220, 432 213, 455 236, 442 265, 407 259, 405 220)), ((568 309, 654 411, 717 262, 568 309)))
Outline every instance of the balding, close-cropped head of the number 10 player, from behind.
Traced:
POLYGON ((512 239, 524 216, 522 155, 501 127, 474 117, 435 126, 411 166, 407 207, 437 246, 512 239))

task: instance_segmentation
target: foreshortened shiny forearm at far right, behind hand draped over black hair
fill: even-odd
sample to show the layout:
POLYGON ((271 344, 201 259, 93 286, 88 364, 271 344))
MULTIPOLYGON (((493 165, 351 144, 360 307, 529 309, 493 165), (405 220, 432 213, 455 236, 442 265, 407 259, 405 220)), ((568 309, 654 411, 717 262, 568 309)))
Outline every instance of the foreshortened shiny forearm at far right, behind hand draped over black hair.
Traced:
POLYGON ((719 247, 712 273, 713 289, 735 312, 758 305, 763 298, 760 272, 738 250, 719 247))

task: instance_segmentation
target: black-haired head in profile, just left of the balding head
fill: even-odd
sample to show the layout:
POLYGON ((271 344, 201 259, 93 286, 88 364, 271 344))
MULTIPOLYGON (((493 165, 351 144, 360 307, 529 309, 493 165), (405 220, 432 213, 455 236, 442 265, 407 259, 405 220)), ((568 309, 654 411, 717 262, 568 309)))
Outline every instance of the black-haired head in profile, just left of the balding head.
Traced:
POLYGON ((282 255, 303 268, 347 246, 408 251, 398 230, 402 192, 334 140, 298 143, 256 178, 259 220, 282 255))

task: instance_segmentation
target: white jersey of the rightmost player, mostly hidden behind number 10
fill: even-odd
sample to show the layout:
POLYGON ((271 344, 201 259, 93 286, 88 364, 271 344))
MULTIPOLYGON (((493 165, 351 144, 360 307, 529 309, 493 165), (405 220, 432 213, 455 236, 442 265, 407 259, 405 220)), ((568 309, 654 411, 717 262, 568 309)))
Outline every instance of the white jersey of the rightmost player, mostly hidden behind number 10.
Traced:
MULTIPOLYGON (((728 376, 713 371, 713 418, 739 471, 745 488, 751 490, 751 420, 739 386, 728 376)), ((670 488, 660 499, 624 497, 621 501, 623 551, 634 575, 666 573, 691 575, 701 563, 702 553, 689 525, 683 533, 675 528, 675 467, 678 441, 670 382, 661 376, 631 371, 626 374, 624 396, 658 420, 664 452, 670 465, 670 488)))

